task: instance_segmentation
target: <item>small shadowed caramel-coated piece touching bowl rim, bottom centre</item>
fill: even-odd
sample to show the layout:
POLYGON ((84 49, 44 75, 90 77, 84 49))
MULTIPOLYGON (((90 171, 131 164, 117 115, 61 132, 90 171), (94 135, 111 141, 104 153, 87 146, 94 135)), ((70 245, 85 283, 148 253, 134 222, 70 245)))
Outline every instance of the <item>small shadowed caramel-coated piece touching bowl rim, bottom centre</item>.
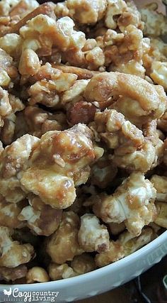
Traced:
POLYGON ((91 272, 96 269, 95 260, 88 253, 83 253, 82 255, 76 255, 71 261, 71 268, 78 275, 83 275, 86 272, 91 272))

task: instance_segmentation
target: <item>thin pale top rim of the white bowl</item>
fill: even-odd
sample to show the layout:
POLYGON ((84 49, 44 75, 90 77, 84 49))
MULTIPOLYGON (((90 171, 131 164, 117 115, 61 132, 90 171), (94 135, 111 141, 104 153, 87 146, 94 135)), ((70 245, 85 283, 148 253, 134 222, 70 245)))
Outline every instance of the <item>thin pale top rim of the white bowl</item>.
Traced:
MULTIPOLYGON (((59 287, 61 285, 61 287, 65 286, 65 285, 76 285, 79 284, 80 282, 84 282, 83 280, 87 280, 86 282, 88 282, 88 280, 92 281, 94 279, 98 279, 98 277, 100 277, 100 275, 102 274, 107 274, 108 272, 110 272, 111 270, 117 269, 119 270, 120 268, 124 268, 127 267, 130 263, 132 263, 134 260, 135 262, 137 261, 138 258, 142 258, 144 255, 148 255, 149 253, 151 253, 151 251, 153 251, 155 248, 159 248, 160 246, 163 245, 163 243, 166 243, 167 245, 167 231, 164 231, 163 233, 161 233, 161 235, 157 238, 155 238, 153 241, 149 242, 148 244, 146 244, 146 246, 143 246, 142 248, 139 248, 139 250, 134 251, 134 253, 127 255, 125 258, 122 258, 120 260, 117 260, 114 263, 111 263, 109 265, 105 265, 103 268, 97 268, 96 270, 93 270, 91 272, 86 272, 85 274, 82 275, 78 275, 75 277, 69 277, 67 279, 62 279, 62 280, 55 280, 55 281, 49 281, 49 282, 41 282, 41 283, 30 283, 30 284, 20 284, 20 285, 6 285, 8 287, 20 287, 23 288, 24 290, 26 289, 30 289, 33 291, 33 289, 39 287, 39 285, 41 285, 40 287, 47 287, 48 283, 50 283, 50 285, 54 285, 55 287, 59 287)), ((5 284, 0 284, 0 290, 1 287, 4 287, 5 284)))

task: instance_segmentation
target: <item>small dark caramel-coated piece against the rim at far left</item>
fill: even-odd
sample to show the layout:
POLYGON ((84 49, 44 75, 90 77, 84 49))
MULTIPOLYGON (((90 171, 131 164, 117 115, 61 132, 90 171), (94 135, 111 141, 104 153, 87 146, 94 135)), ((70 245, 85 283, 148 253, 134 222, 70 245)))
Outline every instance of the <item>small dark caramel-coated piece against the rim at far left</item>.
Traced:
POLYGON ((25 277, 27 274, 27 268, 25 265, 19 265, 16 268, 5 268, 0 267, 0 280, 5 280, 6 282, 15 281, 25 277))

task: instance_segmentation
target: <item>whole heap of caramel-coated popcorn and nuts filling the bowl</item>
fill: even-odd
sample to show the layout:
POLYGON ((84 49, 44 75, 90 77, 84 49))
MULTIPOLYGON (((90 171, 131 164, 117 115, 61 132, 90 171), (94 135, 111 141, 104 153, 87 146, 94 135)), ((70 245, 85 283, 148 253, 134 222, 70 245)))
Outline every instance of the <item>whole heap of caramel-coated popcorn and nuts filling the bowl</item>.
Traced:
POLYGON ((164 35, 156 4, 1 0, 2 284, 96 270, 167 228, 164 35))

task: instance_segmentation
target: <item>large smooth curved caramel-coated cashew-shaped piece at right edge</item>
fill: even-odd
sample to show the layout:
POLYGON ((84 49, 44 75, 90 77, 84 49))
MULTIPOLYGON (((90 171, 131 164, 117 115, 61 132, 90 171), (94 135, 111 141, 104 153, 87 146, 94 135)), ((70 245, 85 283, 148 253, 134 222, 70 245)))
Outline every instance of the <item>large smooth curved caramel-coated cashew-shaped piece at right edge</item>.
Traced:
POLYGON ((86 87, 85 97, 91 102, 103 102, 110 97, 118 97, 113 108, 124 114, 129 121, 140 125, 150 119, 160 118, 166 109, 163 87, 154 86, 140 77, 118 72, 103 72, 93 76, 86 87))

